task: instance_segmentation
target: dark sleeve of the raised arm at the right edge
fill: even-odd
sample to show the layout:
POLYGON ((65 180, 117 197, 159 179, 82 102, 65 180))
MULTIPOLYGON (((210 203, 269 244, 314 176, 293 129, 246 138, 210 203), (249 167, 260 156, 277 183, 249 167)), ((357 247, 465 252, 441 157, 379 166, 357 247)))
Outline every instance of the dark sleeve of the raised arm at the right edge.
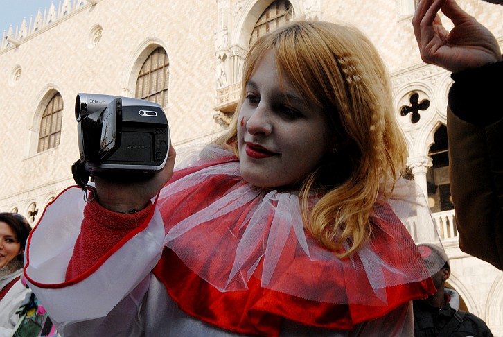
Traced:
POLYGON ((452 74, 448 141, 459 248, 503 270, 503 62, 452 74))

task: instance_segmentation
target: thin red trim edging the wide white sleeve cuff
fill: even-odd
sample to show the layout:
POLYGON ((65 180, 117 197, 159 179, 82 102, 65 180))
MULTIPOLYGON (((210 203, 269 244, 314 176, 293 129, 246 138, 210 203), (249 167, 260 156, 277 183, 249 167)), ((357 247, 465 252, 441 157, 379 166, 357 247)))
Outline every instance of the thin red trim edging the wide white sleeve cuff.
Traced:
MULTIPOLYGON (((68 189, 71 189, 73 187, 77 187, 77 186, 72 186, 72 187, 68 187, 67 189, 64 189, 64 191, 62 191, 58 195, 58 197, 55 198, 55 200, 57 198, 59 198, 62 195, 62 193, 64 193, 65 191, 67 191, 68 189)), ((77 187, 77 188, 80 189, 80 187, 77 187)), ((122 248, 122 246, 125 245, 125 243, 127 243, 127 241, 129 241, 133 236, 135 236, 136 234, 139 234, 140 232, 142 232, 143 230, 145 230, 145 228, 148 226, 148 223, 150 223, 150 219, 152 219, 152 216, 154 215, 155 206, 157 205, 157 198, 159 198, 159 193, 157 193, 157 196, 155 198, 154 204, 153 204, 152 208, 150 209, 150 212, 149 212, 148 216, 145 218, 145 220, 143 221, 143 223, 141 223, 141 225, 139 225, 138 227, 134 228, 134 230, 132 230, 131 232, 125 234, 125 236, 123 236, 123 238, 120 241, 118 241, 118 243, 116 243, 110 250, 108 250, 107 253, 105 253, 102 257, 100 257, 98 259, 98 261, 96 261, 96 263, 94 263, 94 265, 91 268, 87 269, 84 273, 78 275, 77 277, 73 277, 72 279, 69 279, 69 280, 67 280, 65 282, 62 282, 62 283, 59 283, 59 284, 43 284, 43 283, 39 283, 39 282, 36 282, 35 280, 31 279, 26 274, 26 268, 28 268, 28 266, 30 264, 30 241, 31 241, 31 236, 32 236, 33 232, 35 232, 35 230, 37 230, 37 226, 38 226, 38 224, 40 223, 40 220, 42 220, 42 217, 45 214, 45 209, 44 209, 44 213, 42 214, 42 217, 40 218, 39 222, 37 223, 37 226, 35 226, 33 228, 32 232, 30 232, 30 234, 28 236, 28 241, 26 243, 26 266, 24 267, 24 276, 26 277, 26 279, 28 279, 28 281, 30 281, 30 283, 34 284, 35 286, 38 286, 39 288, 64 288, 66 286, 71 286, 73 284, 77 284, 78 282, 82 282, 84 279, 86 279, 91 274, 93 274, 94 272, 96 272, 96 270, 98 270, 98 268, 100 268, 100 266, 102 266, 103 263, 105 263, 105 261, 107 261, 107 259, 112 256, 112 254, 114 254, 115 252, 117 252, 117 250, 119 250, 120 248, 122 248)), ((51 205, 55 200, 53 200, 52 202, 50 202, 48 205, 51 205)), ((47 207, 48 207, 48 205, 47 205, 47 207)), ((127 214, 124 214, 124 216, 127 216, 127 214)))

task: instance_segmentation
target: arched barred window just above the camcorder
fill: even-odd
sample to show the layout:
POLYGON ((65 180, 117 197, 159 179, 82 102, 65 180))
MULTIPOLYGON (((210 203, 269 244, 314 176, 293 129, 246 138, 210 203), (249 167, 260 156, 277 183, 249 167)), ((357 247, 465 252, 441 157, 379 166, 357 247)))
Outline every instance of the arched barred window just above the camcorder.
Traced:
POLYGON ((159 47, 152 51, 143 63, 138 80, 136 80, 134 96, 166 107, 168 105, 169 74, 168 54, 162 47, 159 47))

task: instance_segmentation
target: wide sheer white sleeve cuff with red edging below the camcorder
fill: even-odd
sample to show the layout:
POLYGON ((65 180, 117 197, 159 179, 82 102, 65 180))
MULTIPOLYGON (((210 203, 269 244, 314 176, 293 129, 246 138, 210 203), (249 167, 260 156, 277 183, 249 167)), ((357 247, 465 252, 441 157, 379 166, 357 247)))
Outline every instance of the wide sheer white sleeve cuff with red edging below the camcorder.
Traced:
POLYGON ((148 224, 120 241, 85 273, 66 281, 83 219, 82 196, 78 187, 63 191, 48 205, 26 244, 25 277, 60 332, 74 322, 107 316, 119 302, 127 306, 121 312, 136 314, 163 248, 164 224, 157 207, 152 207, 148 224))

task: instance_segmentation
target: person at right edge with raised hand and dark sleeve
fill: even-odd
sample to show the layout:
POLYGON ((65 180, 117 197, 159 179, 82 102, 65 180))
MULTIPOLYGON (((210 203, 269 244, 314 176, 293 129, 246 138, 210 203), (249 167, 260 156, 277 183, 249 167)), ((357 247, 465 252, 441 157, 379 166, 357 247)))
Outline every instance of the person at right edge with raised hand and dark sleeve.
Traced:
MULTIPOLYGON (((487 1, 502 5, 501 0, 487 1)), ((452 72, 447 131, 459 248, 503 270, 503 62, 494 35, 454 0, 421 0, 421 58, 452 72), (447 31, 439 11, 454 27, 447 31)))

